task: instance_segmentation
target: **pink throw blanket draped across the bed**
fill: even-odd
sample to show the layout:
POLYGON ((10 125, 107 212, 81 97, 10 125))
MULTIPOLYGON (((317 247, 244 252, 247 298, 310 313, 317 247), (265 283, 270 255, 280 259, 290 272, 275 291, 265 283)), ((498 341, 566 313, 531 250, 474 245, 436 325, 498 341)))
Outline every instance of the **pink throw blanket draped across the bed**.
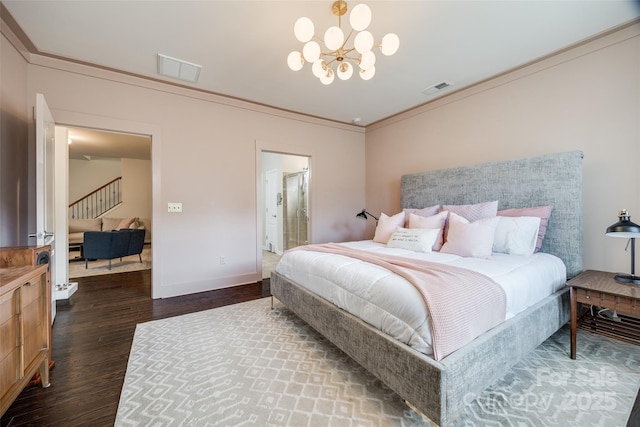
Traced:
POLYGON ((506 295, 489 277, 465 268, 377 254, 335 243, 293 250, 329 252, 379 265, 409 281, 422 295, 431 317, 433 357, 453 353, 504 321, 506 295))

